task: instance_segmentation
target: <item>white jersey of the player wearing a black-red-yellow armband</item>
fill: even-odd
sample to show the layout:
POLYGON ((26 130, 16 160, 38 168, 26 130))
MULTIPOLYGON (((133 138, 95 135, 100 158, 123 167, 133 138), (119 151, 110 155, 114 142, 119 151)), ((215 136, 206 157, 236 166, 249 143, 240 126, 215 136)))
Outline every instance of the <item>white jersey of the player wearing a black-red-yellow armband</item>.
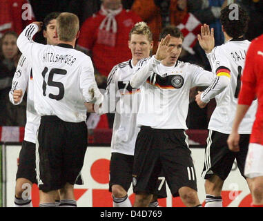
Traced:
MULTIPOLYGON (((237 108, 237 98, 241 88, 241 76, 244 70, 246 51, 251 44, 245 39, 232 39, 221 46, 215 47, 208 59, 214 73, 226 73, 230 75, 230 84, 220 93, 215 96, 217 103, 213 114, 211 115, 208 129, 218 131, 220 133, 230 134, 235 112, 237 108)), ((209 96, 209 91, 206 89, 204 93, 209 96)), ((251 104, 249 111, 242 120, 239 133, 251 133, 255 113, 257 111, 257 100, 251 104)))

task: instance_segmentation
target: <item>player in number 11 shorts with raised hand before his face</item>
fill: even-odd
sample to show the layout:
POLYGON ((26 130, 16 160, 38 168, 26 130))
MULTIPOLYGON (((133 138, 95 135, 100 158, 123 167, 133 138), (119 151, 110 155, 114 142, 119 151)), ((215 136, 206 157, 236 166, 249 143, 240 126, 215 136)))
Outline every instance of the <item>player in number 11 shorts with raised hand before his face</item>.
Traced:
POLYGON ((130 79, 130 86, 141 90, 133 166, 135 207, 148 206, 160 171, 174 197, 179 195, 186 206, 201 206, 184 130, 189 90, 208 86, 214 76, 199 66, 178 61, 183 39, 179 28, 164 28, 156 55, 140 60, 130 79))

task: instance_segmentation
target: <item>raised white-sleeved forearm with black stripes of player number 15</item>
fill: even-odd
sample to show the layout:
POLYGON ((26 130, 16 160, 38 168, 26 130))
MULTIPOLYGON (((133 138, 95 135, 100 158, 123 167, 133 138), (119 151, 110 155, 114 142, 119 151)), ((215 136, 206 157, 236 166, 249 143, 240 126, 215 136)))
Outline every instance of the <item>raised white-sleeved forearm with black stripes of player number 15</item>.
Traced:
POLYGON ((17 47, 23 54, 28 54, 29 46, 34 42, 32 37, 38 32, 39 27, 36 24, 30 24, 21 32, 17 38, 17 47))

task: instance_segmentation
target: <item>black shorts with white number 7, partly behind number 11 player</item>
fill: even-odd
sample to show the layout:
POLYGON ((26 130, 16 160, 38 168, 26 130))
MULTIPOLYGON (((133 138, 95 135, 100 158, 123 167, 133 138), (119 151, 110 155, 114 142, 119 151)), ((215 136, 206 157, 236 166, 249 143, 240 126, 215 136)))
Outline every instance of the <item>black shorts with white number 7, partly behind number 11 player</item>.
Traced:
MULTIPOLYGON (((110 182, 109 191, 115 184, 122 186, 126 192, 130 188, 133 181, 133 155, 122 153, 112 153, 110 157, 110 182)), ((166 198, 166 184, 163 177, 158 177, 158 188, 155 190, 155 195, 158 198, 166 198), (159 188, 162 187, 162 188, 159 188)))

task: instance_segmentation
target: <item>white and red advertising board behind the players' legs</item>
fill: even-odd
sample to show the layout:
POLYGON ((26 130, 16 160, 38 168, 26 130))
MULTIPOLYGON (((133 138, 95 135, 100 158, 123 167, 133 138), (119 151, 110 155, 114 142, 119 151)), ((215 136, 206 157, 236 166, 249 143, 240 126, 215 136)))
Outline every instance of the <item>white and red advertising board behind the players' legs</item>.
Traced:
MULTIPOLYGON (((16 126, 0 127, 1 141, 1 206, 12 207, 14 200, 14 180, 17 172, 17 160, 23 140, 23 128, 16 126)), ((108 174, 110 164, 110 129, 95 129, 89 137, 90 144, 86 151, 84 167, 81 175, 84 185, 75 185, 75 198, 80 207, 111 207, 112 198, 108 191, 108 174)), ((204 180, 200 176, 204 162, 204 145, 206 144, 206 130, 188 130, 189 144, 196 169, 196 179, 199 199, 204 203, 204 180)), ((166 186, 167 187, 167 186, 166 186)), ((167 188, 168 189, 168 188, 167 188)), ((33 206, 38 206, 38 189, 32 188, 33 206)), ((128 191, 131 202, 134 201, 132 188, 128 191)), ((237 170, 236 164, 226 179, 222 191, 223 206, 249 207, 251 194, 244 178, 237 170)), ((168 197, 159 200, 160 206, 184 207, 179 198, 173 198, 168 190, 168 197)))

